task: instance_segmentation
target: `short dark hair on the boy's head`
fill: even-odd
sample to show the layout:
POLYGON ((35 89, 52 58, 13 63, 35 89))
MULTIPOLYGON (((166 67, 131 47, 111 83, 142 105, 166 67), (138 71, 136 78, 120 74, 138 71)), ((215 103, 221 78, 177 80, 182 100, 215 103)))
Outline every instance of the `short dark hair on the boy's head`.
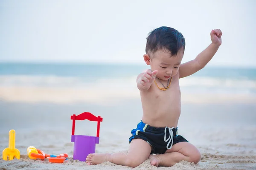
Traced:
POLYGON ((166 49, 177 55, 180 48, 185 50, 185 38, 174 28, 162 26, 151 31, 147 37, 146 53, 166 49))

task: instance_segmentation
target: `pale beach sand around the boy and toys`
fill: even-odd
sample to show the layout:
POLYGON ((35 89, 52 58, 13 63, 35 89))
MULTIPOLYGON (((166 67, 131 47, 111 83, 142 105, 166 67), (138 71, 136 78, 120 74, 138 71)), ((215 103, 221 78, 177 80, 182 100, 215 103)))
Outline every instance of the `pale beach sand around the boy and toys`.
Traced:
MULTIPOLYGON (((94 95, 94 100, 89 100, 79 92, 63 94, 59 90, 51 94, 42 89, 15 88, 16 92, 8 89, 0 88, 0 150, 8 147, 8 132, 14 129, 21 158, 4 161, 0 153, 2 170, 256 170, 255 96, 229 96, 225 100, 218 100, 221 96, 183 96, 179 134, 198 147, 201 161, 197 165, 181 161, 172 167, 156 168, 146 160, 130 168, 111 162, 89 166, 73 160, 70 116, 88 111, 103 117, 96 153, 127 151, 130 131, 142 115, 136 92, 119 98, 113 95, 112 100, 107 97, 99 100, 94 95), (76 96, 79 100, 72 100, 76 96), (48 154, 68 153, 69 159, 63 164, 31 160, 26 154, 26 148, 31 145, 48 154)), ((76 134, 95 136, 96 123, 77 122, 76 134)))

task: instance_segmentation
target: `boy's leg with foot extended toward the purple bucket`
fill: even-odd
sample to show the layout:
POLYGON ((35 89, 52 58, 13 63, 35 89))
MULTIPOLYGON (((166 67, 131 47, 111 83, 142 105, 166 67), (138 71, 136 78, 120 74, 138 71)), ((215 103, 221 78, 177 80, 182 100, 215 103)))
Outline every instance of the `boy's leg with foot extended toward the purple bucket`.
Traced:
POLYGON ((101 164, 110 161, 114 164, 137 167, 148 159, 151 153, 151 146, 142 139, 133 139, 131 141, 128 153, 93 153, 86 158, 86 163, 101 164))

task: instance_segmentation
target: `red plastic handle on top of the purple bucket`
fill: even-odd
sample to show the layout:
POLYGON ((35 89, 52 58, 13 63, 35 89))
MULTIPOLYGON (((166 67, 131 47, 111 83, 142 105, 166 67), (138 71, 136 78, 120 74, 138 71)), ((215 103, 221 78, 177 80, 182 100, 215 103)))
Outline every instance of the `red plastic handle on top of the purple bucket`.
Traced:
POLYGON ((84 112, 81 113, 79 115, 73 114, 73 116, 71 116, 71 120, 73 120, 72 123, 72 135, 75 135, 75 125, 76 125, 76 120, 90 120, 90 121, 96 121, 98 122, 97 124, 97 137, 99 137, 99 124, 100 122, 102 122, 102 117, 98 116, 94 116, 92 113, 90 112, 84 112))

